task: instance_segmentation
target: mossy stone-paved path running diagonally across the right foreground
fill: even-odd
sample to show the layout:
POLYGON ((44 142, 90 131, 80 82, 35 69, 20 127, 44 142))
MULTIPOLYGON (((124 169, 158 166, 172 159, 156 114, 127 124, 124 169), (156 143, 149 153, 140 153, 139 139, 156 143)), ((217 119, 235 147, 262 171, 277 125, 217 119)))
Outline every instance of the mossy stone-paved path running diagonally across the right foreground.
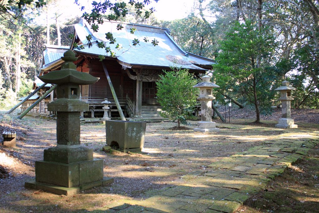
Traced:
POLYGON ((146 192, 149 198, 119 200, 93 212, 235 212, 243 202, 283 173, 318 137, 298 134, 263 141, 261 146, 209 164, 174 181, 174 187, 146 192))

